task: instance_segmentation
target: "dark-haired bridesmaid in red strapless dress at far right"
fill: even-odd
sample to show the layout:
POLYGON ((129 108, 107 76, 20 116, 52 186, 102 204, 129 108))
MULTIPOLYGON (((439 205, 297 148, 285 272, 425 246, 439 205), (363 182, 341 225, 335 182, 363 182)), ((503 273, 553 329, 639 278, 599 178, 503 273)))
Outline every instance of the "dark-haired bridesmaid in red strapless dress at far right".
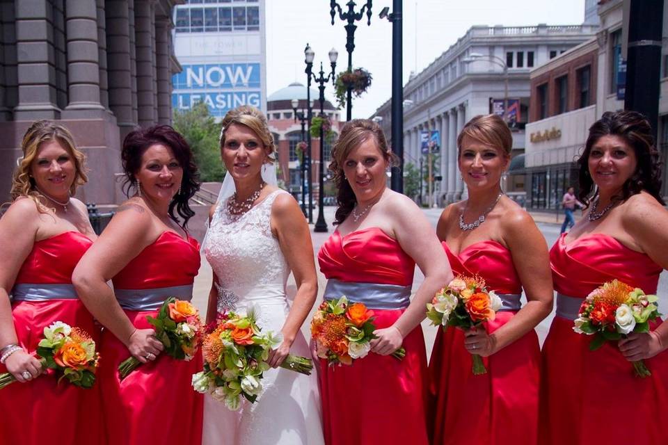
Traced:
POLYGON ((578 166, 580 200, 591 209, 550 251, 557 314, 543 345, 541 444, 668 440, 660 420, 668 410, 667 323, 655 321, 651 332, 596 351, 589 350, 591 337, 573 332, 582 300, 603 282, 655 293, 668 267, 668 211, 656 159, 651 127, 639 113, 604 113, 589 129, 578 166), (639 359, 651 376, 635 377, 630 362, 639 359))

